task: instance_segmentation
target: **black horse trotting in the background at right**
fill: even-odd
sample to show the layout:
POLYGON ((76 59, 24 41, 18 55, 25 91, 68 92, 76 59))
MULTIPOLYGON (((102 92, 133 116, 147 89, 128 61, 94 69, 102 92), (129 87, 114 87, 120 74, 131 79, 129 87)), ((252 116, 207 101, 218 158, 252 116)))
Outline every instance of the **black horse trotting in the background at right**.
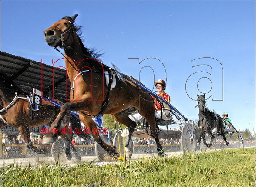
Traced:
POLYGON ((215 136, 212 134, 212 129, 217 128, 217 135, 222 135, 223 140, 226 142, 226 145, 228 146, 229 142, 226 141, 226 137, 224 134, 224 125, 221 116, 206 108, 205 94, 200 96, 197 95, 197 97, 198 104, 196 107, 199 108, 198 127, 200 131, 199 138, 197 139, 197 144, 200 144, 202 137, 204 144, 208 148, 210 148, 212 145, 212 141, 215 138, 215 136), (205 133, 211 136, 211 141, 209 144, 206 143, 205 133))

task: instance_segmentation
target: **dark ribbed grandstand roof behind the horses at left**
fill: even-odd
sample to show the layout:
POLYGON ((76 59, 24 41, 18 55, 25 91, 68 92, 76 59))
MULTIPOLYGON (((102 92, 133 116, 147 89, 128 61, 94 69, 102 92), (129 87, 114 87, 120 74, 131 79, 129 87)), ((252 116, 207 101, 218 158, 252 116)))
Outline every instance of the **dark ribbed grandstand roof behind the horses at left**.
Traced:
MULTIPOLYGON (((54 66, 42 64, 34 60, 25 59, 1 51, 1 73, 7 75, 25 92, 32 92, 32 88, 41 89, 41 72, 43 67, 43 96, 53 97, 53 69, 54 66)), ((68 88, 69 88, 68 81, 68 88)), ((69 90, 68 98, 69 98, 69 90)), ((54 98, 66 101, 66 71, 57 68, 54 71, 54 98)))

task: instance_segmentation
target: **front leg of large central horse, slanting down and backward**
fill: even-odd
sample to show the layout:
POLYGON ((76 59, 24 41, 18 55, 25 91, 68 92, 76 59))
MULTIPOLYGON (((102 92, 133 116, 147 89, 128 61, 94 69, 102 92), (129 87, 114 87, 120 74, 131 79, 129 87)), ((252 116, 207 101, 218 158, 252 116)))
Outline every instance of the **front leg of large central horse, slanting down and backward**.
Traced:
POLYGON ((97 129, 97 126, 93 121, 92 117, 79 114, 79 118, 84 123, 84 125, 86 125, 86 127, 90 129, 92 133, 92 137, 94 138, 94 141, 96 141, 102 148, 104 148, 105 151, 107 151, 107 153, 110 154, 112 157, 118 158, 119 153, 116 152, 116 147, 105 143, 101 139, 101 136, 98 133, 98 131, 95 131, 97 129))

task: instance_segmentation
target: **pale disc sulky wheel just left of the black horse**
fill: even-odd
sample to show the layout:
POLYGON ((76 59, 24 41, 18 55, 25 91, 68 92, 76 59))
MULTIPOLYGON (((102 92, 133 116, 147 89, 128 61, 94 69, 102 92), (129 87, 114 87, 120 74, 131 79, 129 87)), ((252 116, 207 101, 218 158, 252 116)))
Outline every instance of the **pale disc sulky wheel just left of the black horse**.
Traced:
POLYGON ((192 131, 192 127, 190 125, 183 125, 182 133, 181 133, 181 147, 183 152, 192 152, 196 151, 196 138, 195 131, 192 131), (189 128, 188 128, 189 127, 189 128))

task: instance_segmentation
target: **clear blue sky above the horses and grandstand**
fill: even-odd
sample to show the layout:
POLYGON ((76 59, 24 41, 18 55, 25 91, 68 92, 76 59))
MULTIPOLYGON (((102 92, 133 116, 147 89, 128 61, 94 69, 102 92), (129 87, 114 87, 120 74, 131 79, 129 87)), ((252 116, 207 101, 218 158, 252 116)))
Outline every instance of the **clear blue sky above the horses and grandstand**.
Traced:
POLYGON ((103 52, 103 63, 150 89, 167 80, 172 105, 187 118, 198 119, 191 98, 209 92, 210 110, 255 130, 255 1, 1 1, 1 51, 62 58, 43 30, 75 13, 85 46, 103 52))

